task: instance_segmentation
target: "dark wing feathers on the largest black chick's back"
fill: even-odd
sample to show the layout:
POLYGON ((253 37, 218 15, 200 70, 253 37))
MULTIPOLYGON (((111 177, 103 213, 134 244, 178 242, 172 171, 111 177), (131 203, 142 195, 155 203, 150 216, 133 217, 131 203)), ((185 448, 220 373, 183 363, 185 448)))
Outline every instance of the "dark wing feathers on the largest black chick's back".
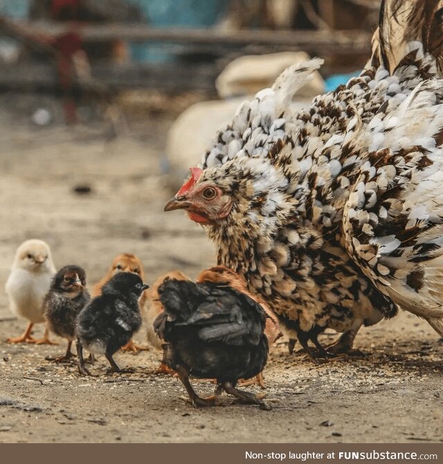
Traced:
POLYGON ((159 288, 159 294, 168 321, 175 326, 194 327, 201 340, 229 345, 260 342, 264 312, 255 301, 235 289, 168 280, 159 288))

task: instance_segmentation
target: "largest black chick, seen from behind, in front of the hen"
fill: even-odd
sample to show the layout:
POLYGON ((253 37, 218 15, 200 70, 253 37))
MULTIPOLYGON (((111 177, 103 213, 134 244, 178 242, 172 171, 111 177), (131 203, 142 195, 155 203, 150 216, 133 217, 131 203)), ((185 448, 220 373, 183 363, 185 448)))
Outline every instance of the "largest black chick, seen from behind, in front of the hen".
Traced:
POLYGON ((239 379, 259 374, 269 353, 266 314, 246 294, 215 283, 166 280, 159 287, 164 312, 154 330, 164 339, 163 363, 179 375, 194 407, 210 406, 221 391, 270 409, 261 398, 235 388, 239 379), (189 375, 215 378, 217 389, 200 398, 189 375))

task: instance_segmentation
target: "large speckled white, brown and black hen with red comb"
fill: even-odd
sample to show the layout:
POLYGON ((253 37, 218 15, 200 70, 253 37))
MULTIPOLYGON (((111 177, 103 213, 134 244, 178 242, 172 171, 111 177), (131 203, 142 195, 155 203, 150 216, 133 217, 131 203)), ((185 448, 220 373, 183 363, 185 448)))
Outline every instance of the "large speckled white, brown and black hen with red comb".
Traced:
POLYGON ((300 114, 288 102, 321 61, 284 71, 165 206, 206 227, 305 348, 333 328, 350 350, 397 307, 443 335, 440 3, 383 1, 367 68, 300 114))

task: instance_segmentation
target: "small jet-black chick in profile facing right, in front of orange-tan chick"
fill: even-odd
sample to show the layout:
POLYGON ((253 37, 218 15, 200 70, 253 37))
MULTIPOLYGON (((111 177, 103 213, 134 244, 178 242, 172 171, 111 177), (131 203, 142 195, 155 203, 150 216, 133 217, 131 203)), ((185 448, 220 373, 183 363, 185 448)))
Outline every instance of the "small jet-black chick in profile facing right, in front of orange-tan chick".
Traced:
POLYGON ((78 370, 92 375, 84 367, 83 348, 90 353, 105 355, 111 372, 132 372, 120 369, 113 359, 114 353, 132 339, 141 327, 138 298, 149 288, 140 276, 120 272, 102 287, 102 294, 83 308, 77 319, 78 370))

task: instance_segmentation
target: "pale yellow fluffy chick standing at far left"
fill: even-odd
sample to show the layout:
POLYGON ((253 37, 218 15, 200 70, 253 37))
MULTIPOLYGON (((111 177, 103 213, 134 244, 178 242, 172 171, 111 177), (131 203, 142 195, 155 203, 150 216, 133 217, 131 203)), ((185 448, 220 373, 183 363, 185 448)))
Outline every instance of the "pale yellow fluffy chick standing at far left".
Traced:
POLYGON ((20 337, 7 339, 9 343, 57 344, 49 340, 47 327, 42 339, 32 337, 33 325, 45 321, 43 299, 54 274, 55 267, 48 244, 33 239, 19 246, 5 289, 11 311, 29 322, 20 337))

